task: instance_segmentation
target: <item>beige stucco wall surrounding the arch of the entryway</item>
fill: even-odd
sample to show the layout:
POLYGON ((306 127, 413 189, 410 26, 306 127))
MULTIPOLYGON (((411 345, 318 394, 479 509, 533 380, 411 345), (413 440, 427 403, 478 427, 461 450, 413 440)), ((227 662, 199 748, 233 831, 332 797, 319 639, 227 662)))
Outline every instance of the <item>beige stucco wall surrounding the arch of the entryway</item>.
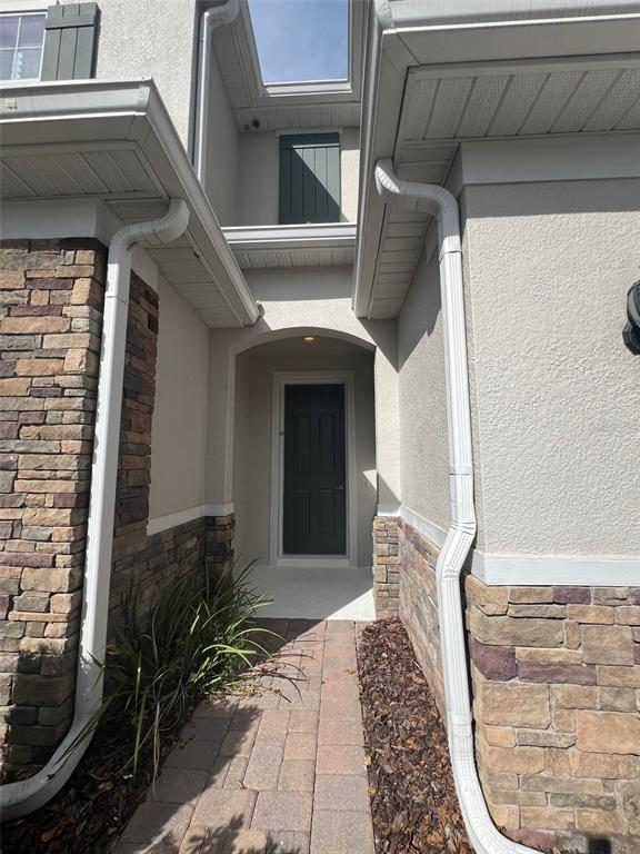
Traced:
POLYGON ((399 500, 396 322, 358 319, 351 310, 351 278, 350 267, 247 271, 262 317, 254 327, 214 330, 211 338, 208 504, 234 500, 237 356, 266 341, 306 332, 341 338, 373 352, 378 502, 393 505, 399 500))

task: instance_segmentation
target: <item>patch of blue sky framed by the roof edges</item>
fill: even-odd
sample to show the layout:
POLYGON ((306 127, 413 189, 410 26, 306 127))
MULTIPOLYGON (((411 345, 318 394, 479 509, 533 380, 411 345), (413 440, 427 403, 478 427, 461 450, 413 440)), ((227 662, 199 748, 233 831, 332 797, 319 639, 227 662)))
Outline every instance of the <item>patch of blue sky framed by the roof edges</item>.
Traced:
POLYGON ((349 77, 349 0, 249 0, 266 83, 349 77))

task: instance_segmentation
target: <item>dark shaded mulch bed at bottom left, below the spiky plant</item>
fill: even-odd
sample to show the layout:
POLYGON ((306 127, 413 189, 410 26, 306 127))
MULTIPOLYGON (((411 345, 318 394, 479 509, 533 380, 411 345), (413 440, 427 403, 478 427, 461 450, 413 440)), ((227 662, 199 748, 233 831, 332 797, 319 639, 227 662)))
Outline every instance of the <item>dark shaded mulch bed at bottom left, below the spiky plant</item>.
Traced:
MULTIPOLYGON (((192 708, 184 712, 183 721, 192 708)), ((162 743, 166 756, 179 726, 162 743)), ((153 778, 153 757, 144 751, 136 777, 124 768, 132 754, 131 724, 109 722, 93 738, 78 768, 46 806, 2 825, 2 854, 104 854, 144 800, 153 778)))

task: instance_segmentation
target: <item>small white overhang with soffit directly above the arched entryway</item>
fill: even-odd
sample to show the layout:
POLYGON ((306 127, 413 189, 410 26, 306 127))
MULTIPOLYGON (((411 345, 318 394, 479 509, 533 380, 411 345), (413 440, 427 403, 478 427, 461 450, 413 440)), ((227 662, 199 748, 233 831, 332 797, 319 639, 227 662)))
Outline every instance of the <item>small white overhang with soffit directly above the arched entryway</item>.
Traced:
POLYGON ((241 269, 346 267, 353 264, 352 222, 222 229, 241 269))

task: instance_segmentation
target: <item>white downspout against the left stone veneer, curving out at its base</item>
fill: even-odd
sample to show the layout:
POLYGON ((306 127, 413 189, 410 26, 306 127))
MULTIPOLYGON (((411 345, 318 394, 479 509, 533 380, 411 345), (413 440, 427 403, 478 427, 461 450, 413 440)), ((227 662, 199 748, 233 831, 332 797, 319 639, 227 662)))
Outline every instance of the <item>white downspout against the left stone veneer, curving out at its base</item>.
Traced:
POLYGON ((2 821, 28 815, 50 801, 69 779, 91 741, 84 737, 72 747, 102 702, 102 671, 96 661, 103 661, 107 646, 131 252, 140 240, 156 245, 176 240, 188 224, 187 203, 173 199, 164 217, 121 228, 109 246, 73 721, 41 771, 28 779, 0 786, 2 821))

